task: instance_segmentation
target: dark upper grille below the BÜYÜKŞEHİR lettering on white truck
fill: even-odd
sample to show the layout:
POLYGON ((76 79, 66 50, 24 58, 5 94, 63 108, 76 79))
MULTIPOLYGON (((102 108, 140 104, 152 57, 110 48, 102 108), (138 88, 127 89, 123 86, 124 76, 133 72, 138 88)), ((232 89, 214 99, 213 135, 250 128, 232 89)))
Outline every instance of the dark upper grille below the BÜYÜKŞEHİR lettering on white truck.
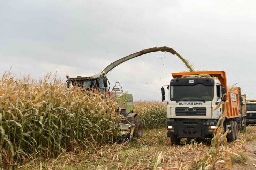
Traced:
POLYGON ((176 116, 206 116, 206 108, 175 108, 176 116))

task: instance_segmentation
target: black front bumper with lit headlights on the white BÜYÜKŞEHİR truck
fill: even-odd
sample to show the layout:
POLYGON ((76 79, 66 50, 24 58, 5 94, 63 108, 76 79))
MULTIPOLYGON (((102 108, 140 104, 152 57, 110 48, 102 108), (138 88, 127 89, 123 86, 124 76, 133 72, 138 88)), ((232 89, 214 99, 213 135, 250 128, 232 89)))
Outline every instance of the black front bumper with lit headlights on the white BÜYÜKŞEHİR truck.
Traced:
POLYGON ((210 138, 213 135, 214 129, 209 129, 209 126, 216 126, 217 120, 210 119, 206 122, 175 122, 173 119, 167 121, 167 127, 172 126, 172 129, 168 129, 167 137, 171 134, 177 136, 177 138, 210 138))

